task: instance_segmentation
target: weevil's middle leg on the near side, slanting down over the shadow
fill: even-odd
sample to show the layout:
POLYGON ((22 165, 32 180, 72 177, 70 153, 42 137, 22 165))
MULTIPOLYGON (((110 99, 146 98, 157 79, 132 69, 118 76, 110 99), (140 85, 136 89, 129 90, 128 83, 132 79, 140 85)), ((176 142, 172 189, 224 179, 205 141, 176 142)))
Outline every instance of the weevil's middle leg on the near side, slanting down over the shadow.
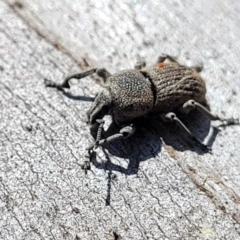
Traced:
POLYGON ((188 135, 199 144, 199 146, 201 148, 203 148, 204 151, 209 151, 210 148, 208 146, 206 146, 204 143, 202 143, 199 139, 197 139, 192 133, 191 131, 184 125, 184 123, 176 116, 175 113, 173 112, 169 112, 169 113, 163 113, 160 115, 161 119, 164 122, 175 122, 178 126, 180 126, 181 128, 184 129, 184 131, 186 133, 188 133, 188 135))

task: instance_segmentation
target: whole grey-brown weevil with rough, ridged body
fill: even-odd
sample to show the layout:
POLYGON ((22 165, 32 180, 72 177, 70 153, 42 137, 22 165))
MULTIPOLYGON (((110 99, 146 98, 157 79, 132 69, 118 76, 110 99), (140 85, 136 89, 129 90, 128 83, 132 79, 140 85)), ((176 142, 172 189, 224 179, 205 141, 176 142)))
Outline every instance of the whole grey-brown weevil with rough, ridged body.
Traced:
MULTIPOLYGON (((62 84, 49 80, 46 80, 45 84, 47 87, 63 90, 70 88, 69 80, 72 78, 81 79, 95 73, 103 79, 103 90, 96 95, 87 113, 88 122, 98 124, 95 142, 87 149, 89 154, 98 146, 133 135, 136 131, 135 119, 156 115, 164 122, 175 122, 207 149, 176 114, 188 114, 197 109, 210 120, 220 120, 208 110, 206 86, 200 71, 200 67, 181 65, 174 58, 165 55, 159 57, 157 63, 151 66, 140 62, 134 69, 115 74, 110 74, 105 68, 93 68, 67 77, 62 84), (118 133, 102 138, 103 117, 106 114, 110 114, 121 129, 118 133)), ((85 161, 84 169, 89 168, 89 161, 85 161)))

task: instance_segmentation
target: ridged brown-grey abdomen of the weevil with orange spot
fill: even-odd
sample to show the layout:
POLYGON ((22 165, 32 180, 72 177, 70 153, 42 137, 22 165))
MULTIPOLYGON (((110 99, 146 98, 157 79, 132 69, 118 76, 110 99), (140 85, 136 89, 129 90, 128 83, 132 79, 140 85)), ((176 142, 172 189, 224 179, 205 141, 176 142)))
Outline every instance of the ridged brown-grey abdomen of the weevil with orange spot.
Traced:
POLYGON ((178 63, 159 63, 143 69, 155 86, 156 99, 152 112, 169 112, 193 99, 206 103, 203 79, 193 69, 178 63))

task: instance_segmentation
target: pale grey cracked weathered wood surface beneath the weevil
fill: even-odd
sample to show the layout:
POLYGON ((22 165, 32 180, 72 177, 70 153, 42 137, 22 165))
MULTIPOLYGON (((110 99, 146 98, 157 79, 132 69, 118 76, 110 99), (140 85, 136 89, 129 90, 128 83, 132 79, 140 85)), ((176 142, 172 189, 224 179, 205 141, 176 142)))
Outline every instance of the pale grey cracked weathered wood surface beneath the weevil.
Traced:
POLYGON ((239 126, 215 129, 203 154, 155 122, 98 149, 85 176, 91 102, 79 99, 100 87, 44 87, 86 62, 114 72, 169 53, 202 62, 212 111, 239 118, 239 4, 158 2, 0 1, 1 239, 240 239, 239 126))

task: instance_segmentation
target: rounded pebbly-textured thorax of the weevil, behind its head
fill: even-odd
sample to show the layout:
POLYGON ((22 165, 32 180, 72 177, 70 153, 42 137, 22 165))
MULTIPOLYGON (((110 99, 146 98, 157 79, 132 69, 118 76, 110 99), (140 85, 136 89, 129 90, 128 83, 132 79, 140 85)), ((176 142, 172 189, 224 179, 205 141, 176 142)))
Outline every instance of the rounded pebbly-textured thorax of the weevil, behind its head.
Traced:
POLYGON ((112 75, 106 87, 111 94, 112 115, 117 123, 141 117, 154 106, 151 82, 138 70, 112 75))

